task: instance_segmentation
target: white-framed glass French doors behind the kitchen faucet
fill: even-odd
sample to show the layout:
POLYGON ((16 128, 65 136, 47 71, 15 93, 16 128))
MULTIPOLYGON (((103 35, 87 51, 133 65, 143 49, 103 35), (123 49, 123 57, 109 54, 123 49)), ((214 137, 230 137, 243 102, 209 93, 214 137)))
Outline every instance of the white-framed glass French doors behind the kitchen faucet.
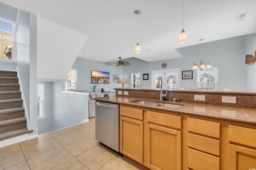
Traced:
MULTIPOLYGON (((151 88, 157 89, 156 85, 158 82, 158 77, 162 76, 163 89, 176 90, 179 88, 179 74, 180 69, 168 69, 168 70, 152 70, 151 71, 151 88)), ((162 84, 161 84, 162 86, 162 84)))

